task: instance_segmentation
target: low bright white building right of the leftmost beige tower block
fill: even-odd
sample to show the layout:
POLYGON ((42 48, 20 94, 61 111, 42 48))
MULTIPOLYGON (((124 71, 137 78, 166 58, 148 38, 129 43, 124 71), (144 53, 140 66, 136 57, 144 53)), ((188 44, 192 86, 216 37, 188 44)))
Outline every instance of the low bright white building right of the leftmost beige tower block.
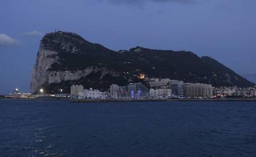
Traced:
POLYGON ((107 93, 101 92, 98 89, 85 89, 82 92, 82 98, 84 99, 106 99, 107 93))

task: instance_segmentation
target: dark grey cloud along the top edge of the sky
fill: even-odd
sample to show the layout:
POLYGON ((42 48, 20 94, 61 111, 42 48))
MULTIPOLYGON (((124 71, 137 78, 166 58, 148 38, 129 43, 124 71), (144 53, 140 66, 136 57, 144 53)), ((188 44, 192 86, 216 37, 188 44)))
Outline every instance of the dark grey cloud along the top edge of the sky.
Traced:
POLYGON ((183 4, 189 4, 189 3, 194 3, 197 2, 197 0, 102 0, 114 4, 144 4, 146 2, 156 2, 156 3, 161 3, 161 2, 178 2, 178 3, 183 3, 183 4))

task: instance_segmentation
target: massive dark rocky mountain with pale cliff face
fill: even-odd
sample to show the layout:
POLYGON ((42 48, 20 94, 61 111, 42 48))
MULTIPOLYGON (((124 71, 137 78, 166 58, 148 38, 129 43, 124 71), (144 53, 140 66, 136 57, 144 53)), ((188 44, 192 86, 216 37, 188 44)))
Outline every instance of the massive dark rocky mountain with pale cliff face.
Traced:
POLYGON ((214 86, 254 85, 216 60, 192 52, 139 46, 117 52, 75 33, 58 31, 41 40, 30 91, 37 93, 44 88, 47 93, 59 89, 69 92, 72 84, 106 90, 113 83, 143 82, 138 78, 140 73, 214 86))

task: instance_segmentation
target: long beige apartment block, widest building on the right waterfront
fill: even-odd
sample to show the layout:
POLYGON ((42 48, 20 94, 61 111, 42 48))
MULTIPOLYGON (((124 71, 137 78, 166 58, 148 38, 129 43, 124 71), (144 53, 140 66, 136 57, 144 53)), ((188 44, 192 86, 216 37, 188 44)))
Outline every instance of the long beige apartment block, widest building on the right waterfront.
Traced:
POLYGON ((184 83, 185 96, 206 97, 213 96, 214 87, 211 84, 184 83))

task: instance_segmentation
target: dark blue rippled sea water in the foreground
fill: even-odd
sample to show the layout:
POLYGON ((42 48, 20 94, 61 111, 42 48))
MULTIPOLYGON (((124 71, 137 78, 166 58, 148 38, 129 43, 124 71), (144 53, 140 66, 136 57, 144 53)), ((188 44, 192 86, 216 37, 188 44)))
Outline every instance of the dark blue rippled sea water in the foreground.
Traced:
POLYGON ((0 157, 256 157, 256 102, 0 101, 0 157))

